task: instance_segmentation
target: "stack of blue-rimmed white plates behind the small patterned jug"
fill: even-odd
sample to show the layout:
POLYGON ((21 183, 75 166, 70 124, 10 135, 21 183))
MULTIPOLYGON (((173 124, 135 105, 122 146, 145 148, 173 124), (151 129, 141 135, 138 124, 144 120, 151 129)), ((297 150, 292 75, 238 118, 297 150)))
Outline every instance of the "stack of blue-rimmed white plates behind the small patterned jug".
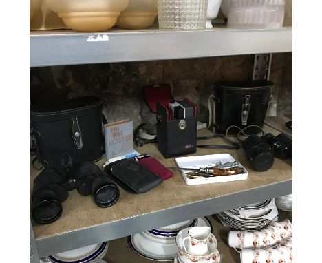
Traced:
POLYGON ((177 234, 186 227, 206 226, 212 229, 211 222, 207 218, 197 218, 131 235, 127 238, 127 242, 133 251, 149 260, 173 261, 178 250, 175 242, 177 234))

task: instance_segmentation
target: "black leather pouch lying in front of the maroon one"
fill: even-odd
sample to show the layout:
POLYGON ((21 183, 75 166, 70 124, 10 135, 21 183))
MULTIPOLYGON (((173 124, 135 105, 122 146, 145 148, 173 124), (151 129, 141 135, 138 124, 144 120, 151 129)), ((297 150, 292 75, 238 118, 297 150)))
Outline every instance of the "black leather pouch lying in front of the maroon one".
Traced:
POLYGON ((117 162, 109 170, 114 182, 132 193, 145 193, 162 182, 159 176, 133 159, 117 162))

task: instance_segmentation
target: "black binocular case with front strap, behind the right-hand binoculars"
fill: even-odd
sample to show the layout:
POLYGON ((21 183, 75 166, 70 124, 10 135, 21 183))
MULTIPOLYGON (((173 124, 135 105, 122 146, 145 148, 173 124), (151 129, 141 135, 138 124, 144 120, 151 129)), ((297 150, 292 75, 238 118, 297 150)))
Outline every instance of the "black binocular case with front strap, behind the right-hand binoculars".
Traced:
MULTIPOLYGON (((272 97, 272 81, 217 81, 215 83, 215 133, 225 134, 230 125, 241 129, 249 125, 264 126, 272 97)), ((248 128, 248 134, 257 129, 248 128)))

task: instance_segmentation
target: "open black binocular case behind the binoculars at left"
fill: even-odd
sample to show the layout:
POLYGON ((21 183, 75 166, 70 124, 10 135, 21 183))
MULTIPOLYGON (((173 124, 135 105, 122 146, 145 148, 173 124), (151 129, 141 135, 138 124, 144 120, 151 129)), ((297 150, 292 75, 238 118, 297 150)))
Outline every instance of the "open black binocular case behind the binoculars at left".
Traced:
POLYGON ((59 167, 66 154, 73 162, 103 155, 103 101, 96 96, 30 107, 36 151, 44 167, 59 167))

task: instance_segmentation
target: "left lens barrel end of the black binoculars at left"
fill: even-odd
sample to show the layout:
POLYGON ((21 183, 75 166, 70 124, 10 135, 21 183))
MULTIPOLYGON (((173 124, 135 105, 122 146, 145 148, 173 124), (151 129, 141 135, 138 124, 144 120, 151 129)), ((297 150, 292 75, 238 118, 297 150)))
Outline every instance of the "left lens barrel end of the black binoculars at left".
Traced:
POLYGON ((32 218, 39 224, 49 224, 60 218, 62 212, 61 202, 56 199, 46 199, 34 205, 32 218))

